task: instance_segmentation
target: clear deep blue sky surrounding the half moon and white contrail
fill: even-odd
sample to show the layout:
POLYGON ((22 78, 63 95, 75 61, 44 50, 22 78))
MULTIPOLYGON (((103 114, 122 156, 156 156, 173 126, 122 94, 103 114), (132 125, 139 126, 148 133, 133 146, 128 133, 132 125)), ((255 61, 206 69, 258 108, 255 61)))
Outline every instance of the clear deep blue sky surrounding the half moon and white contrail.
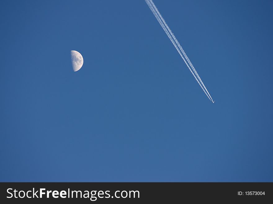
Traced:
POLYGON ((273 2, 154 3, 214 104, 144 0, 1 1, 0 181, 273 181, 273 2))

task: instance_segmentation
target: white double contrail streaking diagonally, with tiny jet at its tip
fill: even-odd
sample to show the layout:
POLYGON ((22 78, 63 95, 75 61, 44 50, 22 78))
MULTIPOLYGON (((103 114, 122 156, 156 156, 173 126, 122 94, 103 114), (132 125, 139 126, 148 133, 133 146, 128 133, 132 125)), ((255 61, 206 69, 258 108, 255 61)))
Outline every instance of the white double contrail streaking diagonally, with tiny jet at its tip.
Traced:
POLYGON ((148 4, 148 6, 150 7, 151 11, 153 12, 154 16, 156 17, 156 19, 158 20, 159 24, 161 25, 161 27, 164 29, 165 33, 168 35, 169 39, 172 41, 172 44, 175 46, 175 48, 177 49, 178 53, 180 54, 180 56, 182 57, 182 59, 184 60, 184 62, 186 63, 186 65, 188 66, 189 70, 191 71, 191 73, 194 75, 196 81, 198 82, 198 84, 200 85, 200 87, 203 89, 204 93, 207 95, 207 97, 209 98, 209 100, 213 101, 212 97, 210 96, 210 94, 208 93, 207 88, 205 87, 204 83, 202 82, 201 78, 199 77, 197 71, 195 70, 194 66, 192 65, 192 63, 190 62, 189 58, 187 57, 186 53, 184 52, 183 48, 181 47, 180 43, 177 41, 176 37, 174 36, 174 34, 172 33, 171 29, 168 27, 167 23, 165 22, 165 20, 163 19, 163 17, 161 16, 161 14, 159 13, 158 9, 156 8, 156 6, 154 5, 154 2, 152 0, 145 0, 145 2, 148 4), (167 30, 168 29, 168 30, 167 30), (178 46, 178 47, 177 47, 178 46), (180 50, 179 50, 179 49, 180 50), (182 54, 184 55, 184 57, 186 58, 187 62, 189 63, 190 67, 192 68, 192 70, 190 69, 188 63, 186 62, 185 58, 182 56, 182 54), (201 85, 201 84, 204 86, 201 85))

